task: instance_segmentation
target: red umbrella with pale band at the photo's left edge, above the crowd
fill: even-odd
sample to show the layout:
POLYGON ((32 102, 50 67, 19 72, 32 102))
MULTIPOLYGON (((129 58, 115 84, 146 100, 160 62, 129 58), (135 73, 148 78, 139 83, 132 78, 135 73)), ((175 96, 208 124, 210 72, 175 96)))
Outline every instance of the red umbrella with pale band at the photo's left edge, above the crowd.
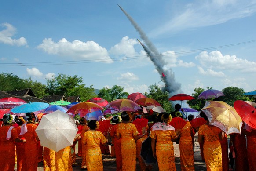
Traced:
POLYGON ((0 107, 5 109, 13 108, 15 106, 23 105, 26 103, 27 102, 20 98, 7 97, 0 99, 0 107))

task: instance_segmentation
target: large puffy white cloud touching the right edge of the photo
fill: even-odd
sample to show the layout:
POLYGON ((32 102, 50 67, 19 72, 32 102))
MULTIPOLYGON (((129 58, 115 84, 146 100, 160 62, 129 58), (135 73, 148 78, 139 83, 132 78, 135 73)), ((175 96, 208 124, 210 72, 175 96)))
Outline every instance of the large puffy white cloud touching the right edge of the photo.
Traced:
POLYGON ((256 62, 237 58, 235 55, 222 55, 220 51, 201 52, 195 57, 203 66, 207 68, 225 69, 239 72, 256 72, 256 62))

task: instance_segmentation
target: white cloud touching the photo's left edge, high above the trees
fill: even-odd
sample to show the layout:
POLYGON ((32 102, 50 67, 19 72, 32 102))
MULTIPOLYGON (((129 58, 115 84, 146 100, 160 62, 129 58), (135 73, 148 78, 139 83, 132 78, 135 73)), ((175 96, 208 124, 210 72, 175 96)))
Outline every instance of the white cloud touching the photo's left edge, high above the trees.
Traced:
POLYGON ((4 44, 16 45, 16 46, 26 46, 27 41, 24 37, 20 37, 19 39, 13 39, 12 36, 16 34, 16 28, 9 23, 0 24, 2 27, 6 27, 6 29, 0 31, 0 42, 4 44))

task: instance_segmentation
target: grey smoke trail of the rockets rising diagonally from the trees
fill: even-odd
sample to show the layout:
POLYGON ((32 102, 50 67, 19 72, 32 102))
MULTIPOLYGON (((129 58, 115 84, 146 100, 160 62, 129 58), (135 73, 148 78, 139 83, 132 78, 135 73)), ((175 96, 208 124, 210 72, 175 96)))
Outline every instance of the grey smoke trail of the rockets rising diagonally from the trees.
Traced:
POLYGON ((124 9, 122 7, 120 7, 120 9, 124 12, 126 17, 130 20, 130 22, 132 23, 132 25, 134 26, 136 31, 139 33, 141 39, 144 40, 145 44, 147 45, 148 48, 140 42, 144 51, 150 57, 150 60, 155 65, 157 72, 160 74, 160 76, 162 75, 162 73, 165 73, 165 84, 166 84, 165 90, 168 91, 169 94, 171 94, 171 95, 180 93, 179 91, 181 88, 181 84, 176 82, 175 75, 172 72, 172 69, 171 68, 164 69, 166 62, 164 60, 163 55, 161 55, 157 51, 157 48, 154 46, 154 44, 152 44, 152 42, 148 39, 146 34, 139 27, 139 25, 132 19, 132 17, 130 15, 128 15, 128 13, 126 11, 124 11, 124 9))

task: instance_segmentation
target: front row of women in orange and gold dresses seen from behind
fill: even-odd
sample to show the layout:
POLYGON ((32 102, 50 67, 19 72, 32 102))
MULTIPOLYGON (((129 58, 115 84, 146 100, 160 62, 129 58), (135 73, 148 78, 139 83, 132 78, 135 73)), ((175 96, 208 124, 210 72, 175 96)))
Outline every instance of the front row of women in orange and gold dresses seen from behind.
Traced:
MULTIPOLYGON (((179 108, 179 106, 176 106, 179 108)), ((179 110, 173 113, 154 114, 154 124, 143 127, 139 134, 132 120, 136 118, 128 112, 113 116, 111 119, 113 128, 106 137, 97 131, 99 122, 84 118, 80 121, 80 131, 74 138, 73 146, 68 146, 55 152, 44 147, 42 156, 44 171, 71 171, 75 162, 75 145, 79 141, 82 156, 82 170, 103 171, 101 145, 106 146, 112 140, 112 153, 116 157, 117 171, 135 171, 136 158, 139 160, 141 171, 151 171, 152 167, 146 165, 140 156, 142 142, 150 137, 151 149, 154 158, 157 159, 159 171, 176 171, 174 146, 179 143, 180 167, 182 171, 194 171, 194 134, 198 131, 198 142, 202 144, 202 159, 208 171, 228 171, 228 141, 227 135, 218 127, 209 124, 205 113, 200 116, 206 124, 199 130, 195 130, 188 117, 188 121, 182 129, 175 130, 169 123, 173 117, 183 115, 179 110)), ((143 117, 143 116, 140 116, 143 117)), ((39 139, 35 132, 37 125, 34 124, 34 113, 26 113, 24 117, 15 116, 13 123, 12 115, 5 114, 3 126, 0 128, 0 171, 13 171, 15 156, 17 156, 18 171, 37 171, 38 154, 40 147, 39 139), (26 121, 25 121, 26 119, 26 121), (15 153, 16 152, 16 153, 15 153)), ((244 124, 241 134, 230 135, 230 156, 235 160, 236 171, 256 170, 256 130, 244 124), (246 140, 247 139, 247 140, 246 140)), ((41 147, 42 148, 42 147, 41 147)), ((79 151, 80 151, 79 150, 79 151)))

